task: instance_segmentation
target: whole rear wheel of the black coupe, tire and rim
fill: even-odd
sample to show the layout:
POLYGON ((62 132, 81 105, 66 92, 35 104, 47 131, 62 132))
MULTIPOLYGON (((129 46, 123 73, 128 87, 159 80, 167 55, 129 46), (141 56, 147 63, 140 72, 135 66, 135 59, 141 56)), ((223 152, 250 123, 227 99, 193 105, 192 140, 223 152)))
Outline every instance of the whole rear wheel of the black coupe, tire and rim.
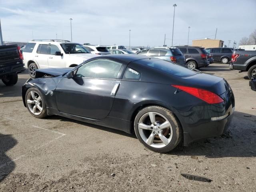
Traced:
POLYGON ((134 130, 146 148, 159 153, 173 150, 182 139, 178 119, 170 110, 160 106, 149 106, 138 112, 134 130))

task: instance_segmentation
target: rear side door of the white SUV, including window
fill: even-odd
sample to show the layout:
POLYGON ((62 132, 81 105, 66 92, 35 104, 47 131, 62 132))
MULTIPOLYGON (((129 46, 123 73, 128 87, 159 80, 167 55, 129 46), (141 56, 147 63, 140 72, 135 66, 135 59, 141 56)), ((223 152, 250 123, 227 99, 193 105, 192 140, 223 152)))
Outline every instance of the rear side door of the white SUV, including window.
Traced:
POLYGON ((49 44, 39 44, 35 54, 35 61, 40 68, 48 68, 49 44))

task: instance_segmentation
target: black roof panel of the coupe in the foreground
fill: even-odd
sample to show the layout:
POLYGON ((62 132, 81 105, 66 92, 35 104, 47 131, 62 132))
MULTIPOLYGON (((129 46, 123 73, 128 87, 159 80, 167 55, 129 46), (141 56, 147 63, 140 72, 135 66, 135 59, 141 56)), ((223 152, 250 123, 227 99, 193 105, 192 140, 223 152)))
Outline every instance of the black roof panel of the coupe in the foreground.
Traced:
MULTIPOLYGON (((148 57, 148 56, 136 55, 136 54, 110 54, 110 55, 102 55, 100 57, 94 57, 89 60, 109 59, 112 61, 116 61, 125 65, 128 65, 132 61, 136 61, 140 59, 148 59, 148 58, 154 58, 154 57, 148 57)), ((88 62, 89 60, 87 60, 86 62, 88 62)))

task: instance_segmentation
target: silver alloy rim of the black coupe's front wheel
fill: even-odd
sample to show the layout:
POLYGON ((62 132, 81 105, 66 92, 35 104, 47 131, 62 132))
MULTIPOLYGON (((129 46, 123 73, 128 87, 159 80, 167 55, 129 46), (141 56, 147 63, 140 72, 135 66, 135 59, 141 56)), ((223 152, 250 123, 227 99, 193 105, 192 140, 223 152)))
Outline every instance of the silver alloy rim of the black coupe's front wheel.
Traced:
POLYGON ((43 110, 43 102, 40 95, 35 91, 30 91, 27 96, 27 105, 30 112, 34 115, 40 115, 43 110))

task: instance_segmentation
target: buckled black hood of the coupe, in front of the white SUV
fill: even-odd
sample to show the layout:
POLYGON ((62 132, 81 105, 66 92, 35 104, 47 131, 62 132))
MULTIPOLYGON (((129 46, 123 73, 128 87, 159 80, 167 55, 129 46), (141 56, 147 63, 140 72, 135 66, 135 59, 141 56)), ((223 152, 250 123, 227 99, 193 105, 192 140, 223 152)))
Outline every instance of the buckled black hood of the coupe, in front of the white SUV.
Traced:
POLYGON ((70 72, 73 68, 47 68, 47 69, 37 69, 36 77, 56 77, 60 75, 64 75, 70 72))

